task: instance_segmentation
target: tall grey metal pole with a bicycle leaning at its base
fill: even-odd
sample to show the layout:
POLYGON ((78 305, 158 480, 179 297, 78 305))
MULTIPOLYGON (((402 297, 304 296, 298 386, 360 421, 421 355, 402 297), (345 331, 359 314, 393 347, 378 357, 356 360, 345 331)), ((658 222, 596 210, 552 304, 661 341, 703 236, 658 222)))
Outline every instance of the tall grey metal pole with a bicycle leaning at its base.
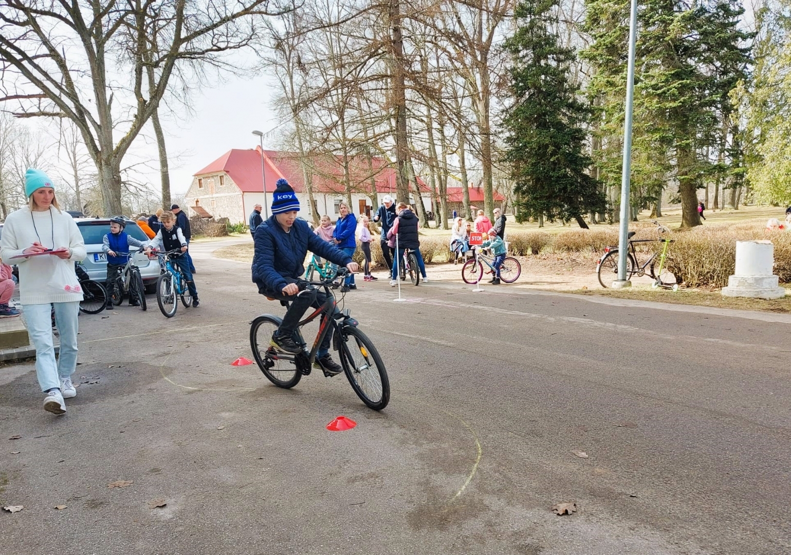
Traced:
POLYGON ((632 169, 632 106, 634 104, 634 51, 638 36, 638 0, 632 0, 629 21, 629 65, 626 68, 626 120, 623 123, 623 169, 621 173, 621 221, 618 241, 618 281, 613 287, 629 287, 626 280, 626 248, 629 245, 629 186, 632 169))

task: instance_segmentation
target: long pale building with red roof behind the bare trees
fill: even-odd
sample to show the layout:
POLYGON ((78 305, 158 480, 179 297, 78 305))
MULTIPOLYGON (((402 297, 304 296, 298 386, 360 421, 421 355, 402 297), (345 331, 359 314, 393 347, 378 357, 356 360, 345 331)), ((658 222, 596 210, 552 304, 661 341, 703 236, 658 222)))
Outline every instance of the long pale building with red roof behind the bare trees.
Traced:
MULTIPOLYGON (((308 160, 306 171, 301 161, 291 153, 261 149, 231 149, 205 168, 195 172, 187 191, 186 204, 190 215, 227 217, 231 223, 247 222, 256 204, 266 206, 262 217, 271 206, 271 194, 278 179, 286 179, 301 203, 301 216, 311 219, 312 213, 338 218, 338 205, 346 199, 343 163, 339 158, 315 157, 308 160), (309 206, 305 179, 311 180, 314 206, 309 206), (266 183, 266 194, 263 192, 266 183)), ((385 194, 395 197, 395 169, 381 157, 368 160, 355 158, 350 163, 349 187, 352 191, 351 210, 355 214, 372 211, 385 194), (376 191, 376 192, 374 192, 376 191), (374 204, 374 199, 376 203, 374 204)), ((418 178, 420 197, 426 211, 431 210, 429 187, 418 178)), ((410 202, 414 203, 414 193, 410 202)))

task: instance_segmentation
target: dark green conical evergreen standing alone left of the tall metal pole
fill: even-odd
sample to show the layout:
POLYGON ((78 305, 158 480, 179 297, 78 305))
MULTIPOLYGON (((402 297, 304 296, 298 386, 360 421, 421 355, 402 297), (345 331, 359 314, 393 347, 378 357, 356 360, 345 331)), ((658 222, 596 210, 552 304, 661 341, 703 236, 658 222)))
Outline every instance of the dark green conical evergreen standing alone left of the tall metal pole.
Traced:
POLYGON ((512 167, 520 210, 532 216, 574 219, 601 212, 604 197, 587 170, 585 154, 590 109, 569 79, 573 51, 560 46, 558 0, 524 0, 517 5, 517 30, 505 41, 511 55, 503 125, 505 159, 512 167))

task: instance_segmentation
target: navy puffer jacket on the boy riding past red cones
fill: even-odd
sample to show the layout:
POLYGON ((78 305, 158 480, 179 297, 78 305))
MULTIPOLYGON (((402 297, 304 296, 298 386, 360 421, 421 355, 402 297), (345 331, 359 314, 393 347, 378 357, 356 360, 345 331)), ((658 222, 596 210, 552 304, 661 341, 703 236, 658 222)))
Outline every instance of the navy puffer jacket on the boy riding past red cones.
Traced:
POLYGON ((305 220, 294 221, 291 232, 286 233, 271 216, 255 228, 255 255, 252 259, 252 281, 259 291, 280 292, 305 274, 305 256, 308 251, 339 266, 351 262, 338 248, 313 234, 305 220))

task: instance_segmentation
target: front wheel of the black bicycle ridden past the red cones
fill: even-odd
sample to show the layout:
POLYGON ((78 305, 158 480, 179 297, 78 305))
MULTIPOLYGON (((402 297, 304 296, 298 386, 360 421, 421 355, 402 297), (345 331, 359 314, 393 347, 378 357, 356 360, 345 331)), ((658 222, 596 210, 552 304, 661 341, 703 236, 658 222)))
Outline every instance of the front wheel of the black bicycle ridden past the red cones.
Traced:
POLYGON ((344 327, 338 332, 343 372, 354 393, 373 410, 382 410, 390 402, 390 380, 377 348, 367 335, 356 327, 344 327))

